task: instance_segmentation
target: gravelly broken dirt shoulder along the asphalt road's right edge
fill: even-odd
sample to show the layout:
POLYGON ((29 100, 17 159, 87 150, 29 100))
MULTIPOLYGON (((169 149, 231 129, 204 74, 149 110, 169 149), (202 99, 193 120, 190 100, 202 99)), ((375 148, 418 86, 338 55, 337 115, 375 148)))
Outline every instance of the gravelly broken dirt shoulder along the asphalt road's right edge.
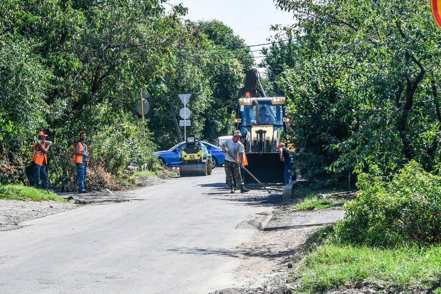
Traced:
POLYGON ((282 195, 277 192, 268 195, 263 191, 252 190, 249 194, 220 194, 214 195, 214 198, 252 205, 270 205, 274 208, 268 215, 250 216, 238 224, 238 229, 254 227, 255 234, 250 242, 236 249, 241 254, 241 265, 234 270, 232 287, 212 294, 292 293, 295 289, 289 281, 293 270, 298 266, 293 264, 293 260, 299 260, 300 247, 316 229, 344 216, 339 208, 294 211, 291 204, 280 204, 282 195))

